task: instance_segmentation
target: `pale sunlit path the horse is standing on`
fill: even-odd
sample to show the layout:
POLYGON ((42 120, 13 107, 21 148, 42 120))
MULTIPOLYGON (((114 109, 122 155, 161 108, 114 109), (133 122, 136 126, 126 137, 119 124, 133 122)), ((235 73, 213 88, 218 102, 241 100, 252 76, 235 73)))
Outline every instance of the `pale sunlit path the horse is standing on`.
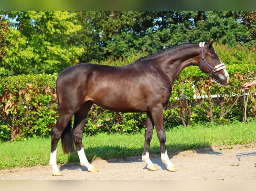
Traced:
POLYGON ((49 166, 0 171, 0 180, 256 180, 256 147, 211 148, 169 153, 177 172, 168 172, 160 156, 151 157, 158 171, 146 169, 141 157, 125 160, 96 160, 97 173, 79 164, 62 165, 63 176, 51 175, 49 166))

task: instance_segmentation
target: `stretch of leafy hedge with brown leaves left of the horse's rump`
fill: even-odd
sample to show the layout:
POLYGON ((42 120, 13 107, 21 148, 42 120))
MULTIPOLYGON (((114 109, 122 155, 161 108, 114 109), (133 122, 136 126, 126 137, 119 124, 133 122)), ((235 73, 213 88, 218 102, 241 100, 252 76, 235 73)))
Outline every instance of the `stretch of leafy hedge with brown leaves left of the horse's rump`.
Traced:
POLYGON ((55 81, 56 75, 0 79, 1 140, 50 135, 57 117, 55 81))

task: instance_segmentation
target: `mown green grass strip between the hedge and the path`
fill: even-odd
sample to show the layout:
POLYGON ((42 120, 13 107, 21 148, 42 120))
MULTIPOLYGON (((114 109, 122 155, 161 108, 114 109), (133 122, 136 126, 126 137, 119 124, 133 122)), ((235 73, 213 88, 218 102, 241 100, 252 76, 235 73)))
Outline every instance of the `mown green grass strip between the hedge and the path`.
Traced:
MULTIPOLYGON (((256 142, 256 121, 212 127, 180 127, 166 131, 167 151, 183 151, 223 145, 246 145, 256 142)), ((30 138, 19 142, 0 143, 0 169, 47 165, 50 156, 50 138, 30 138)), ((124 158, 141 155, 144 131, 134 134, 98 134, 83 137, 88 160, 124 158)), ((160 154, 159 141, 154 130, 150 154, 160 154)), ((77 153, 62 153, 60 141, 57 147, 57 162, 79 162, 77 153)))

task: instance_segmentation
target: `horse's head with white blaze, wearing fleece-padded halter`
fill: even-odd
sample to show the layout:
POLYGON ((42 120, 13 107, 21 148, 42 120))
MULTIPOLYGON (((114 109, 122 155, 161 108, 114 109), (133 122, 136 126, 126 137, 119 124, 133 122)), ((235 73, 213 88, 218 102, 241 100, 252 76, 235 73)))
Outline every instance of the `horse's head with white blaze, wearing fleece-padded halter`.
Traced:
POLYGON ((221 62, 214 48, 212 47, 214 40, 209 43, 200 43, 202 52, 202 60, 199 65, 200 70, 209 74, 213 79, 218 80, 222 85, 229 82, 229 74, 226 66, 221 62))

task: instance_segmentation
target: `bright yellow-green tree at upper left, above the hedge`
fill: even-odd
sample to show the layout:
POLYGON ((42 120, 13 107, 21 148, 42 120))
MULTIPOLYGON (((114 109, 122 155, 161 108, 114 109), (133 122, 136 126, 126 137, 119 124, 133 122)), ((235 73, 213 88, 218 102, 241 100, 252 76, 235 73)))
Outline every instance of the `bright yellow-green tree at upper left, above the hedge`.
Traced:
POLYGON ((72 41, 81 30, 75 13, 10 11, 6 15, 11 25, 6 38, 9 48, 0 67, 9 74, 60 72, 79 63, 84 50, 72 41))

